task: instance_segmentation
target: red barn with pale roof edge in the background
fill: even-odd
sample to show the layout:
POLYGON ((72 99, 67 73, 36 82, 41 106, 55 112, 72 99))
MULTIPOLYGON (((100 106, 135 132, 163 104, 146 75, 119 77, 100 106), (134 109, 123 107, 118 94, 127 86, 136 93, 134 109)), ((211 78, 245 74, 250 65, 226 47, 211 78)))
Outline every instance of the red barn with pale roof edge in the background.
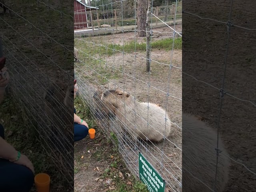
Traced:
POLYGON ((74 30, 88 28, 86 11, 99 9, 97 7, 87 6, 79 0, 74 0, 74 30))

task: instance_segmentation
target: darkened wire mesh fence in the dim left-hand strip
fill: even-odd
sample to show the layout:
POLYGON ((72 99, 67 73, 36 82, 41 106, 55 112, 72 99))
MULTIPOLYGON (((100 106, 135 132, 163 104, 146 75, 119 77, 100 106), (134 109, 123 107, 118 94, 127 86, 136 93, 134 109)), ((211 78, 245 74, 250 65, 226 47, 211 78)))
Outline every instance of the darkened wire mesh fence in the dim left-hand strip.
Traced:
POLYGON ((69 21, 72 14, 63 11, 70 5, 39 0, 0 4, 6 7, 0 16, 0 38, 10 74, 8 87, 22 109, 24 121, 31 126, 31 136, 41 142, 56 170, 72 188, 73 96, 68 86, 73 89, 73 66, 68 61, 72 64, 73 53, 67 48, 72 41, 68 42, 64 35, 55 36, 62 27, 68 27, 63 20, 69 21), (59 20, 51 20, 53 15, 59 20), (58 57, 57 53, 63 56, 58 57), (71 104, 64 104, 65 99, 71 104))

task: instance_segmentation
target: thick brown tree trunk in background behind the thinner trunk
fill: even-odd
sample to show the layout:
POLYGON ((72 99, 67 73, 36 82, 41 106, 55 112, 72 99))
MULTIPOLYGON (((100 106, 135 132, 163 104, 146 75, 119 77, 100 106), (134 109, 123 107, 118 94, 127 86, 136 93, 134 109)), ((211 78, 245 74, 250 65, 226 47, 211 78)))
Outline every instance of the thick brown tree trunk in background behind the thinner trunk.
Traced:
POLYGON ((146 36, 145 31, 146 31, 148 0, 138 0, 137 2, 138 2, 138 6, 137 6, 138 35, 139 37, 144 37, 146 36))

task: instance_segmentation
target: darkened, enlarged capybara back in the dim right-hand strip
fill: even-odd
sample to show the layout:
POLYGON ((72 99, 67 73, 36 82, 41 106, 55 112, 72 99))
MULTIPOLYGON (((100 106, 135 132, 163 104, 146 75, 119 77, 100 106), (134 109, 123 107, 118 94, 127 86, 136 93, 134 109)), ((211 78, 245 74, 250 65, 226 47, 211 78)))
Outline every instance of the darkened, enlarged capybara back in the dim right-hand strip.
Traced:
MULTIPOLYGON (((218 143, 218 148, 221 152, 218 157, 215 191, 222 192, 228 182, 230 160, 225 156, 228 154, 220 136, 218 143)), ((217 132, 214 129, 198 120, 195 116, 182 114, 183 191, 211 192, 214 189, 216 146, 217 132)))

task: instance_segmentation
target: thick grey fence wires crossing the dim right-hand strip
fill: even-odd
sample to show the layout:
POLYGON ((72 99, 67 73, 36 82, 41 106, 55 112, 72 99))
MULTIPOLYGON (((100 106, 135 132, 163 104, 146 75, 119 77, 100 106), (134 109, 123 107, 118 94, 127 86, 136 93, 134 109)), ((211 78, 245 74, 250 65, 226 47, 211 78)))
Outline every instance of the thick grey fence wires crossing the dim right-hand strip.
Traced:
MULTIPOLYGON (((223 77, 222 77, 222 84, 221 84, 221 87, 218 88, 216 86, 213 86, 212 84, 208 83, 208 82, 205 82, 203 80, 200 80, 198 79, 197 77, 194 77, 186 72, 182 72, 182 74, 190 77, 190 78, 193 78, 194 80, 196 80, 197 82, 201 82, 203 84, 206 84, 214 89, 216 89, 218 92, 219 92, 219 96, 220 96, 220 106, 219 106, 219 111, 218 111, 218 121, 217 121, 217 142, 216 142, 216 146, 213 146, 215 148, 215 151, 216 151, 216 173, 215 173, 215 178, 214 178, 214 184, 213 186, 208 186, 203 180, 200 180, 199 178, 196 178, 194 176, 193 173, 189 172, 190 176, 196 178, 198 181, 200 181, 202 184, 204 184, 206 187, 208 187, 212 192, 215 192, 216 191, 216 185, 217 185, 217 177, 218 177, 218 163, 219 163, 219 157, 220 155, 223 155, 227 158, 229 158, 232 162, 236 163, 236 164, 240 164, 242 165, 248 172, 256 175, 256 172, 254 172, 252 169, 248 168, 248 166, 246 166, 245 164, 243 164, 242 162, 238 162, 237 160, 235 160, 234 158, 230 157, 229 154, 226 154, 225 152, 222 152, 221 149, 218 148, 219 146, 219 132, 220 132, 220 118, 221 118, 221 111, 222 111, 222 106, 223 106, 223 99, 224 97, 227 98, 227 96, 231 97, 231 98, 234 98, 236 100, 239 100, 241 102, 248 102, 250 104, 252 104, 253 106, 256 106, 256 103, 252 100, 247 100, 247 99, 244 99, 244 98, 238 98, 237 96, 229 93, 227 91, 228 88, 224 88, 225 86, 225 78, 226 78, 226 67, 227 67, 227 60, 228 60, 228 49, 230 48, 230 34, 232 33, 232 29, 233 28, 241 28, 241 29, 244 29, 244 30, 248 30, 248 31, 256 31, 256 29, 251 29, 251 28, 246 28, 246 27, 243 27, 243 26, 238 26, 234 23, 232 23, 232 10, 233 10, 233 0, 230 0, 230 12, 229 12, 229 16, 228 16, 228 20, 225 22, 225 21, 219 21, 219 20, 216 20, 216 19, 212 19, 212 18, 204 18, 200 15, 197 15, 197 14, 194 14, 194 13, 191 13, 191 12, 188 12, 186 10, 182 10, 182 13, 183 14, 188 14, 188 15, 191 15, 191 16, 194 16, 194 17, 197 17, 201 20, 210 20, 212 22, 218 22, 218 23, 221 23, 221 24, 225 24, 226 27, 227 27, 227 40, 226 40, 226 51, 225 51, 225 56, 224 56, 224 69, 223 69, 223 77)), ((189 131, 189 130, 188 130, 189 131)), ((192 132, 191 132, 192 134, 192 132)), ((203 141, 203 138, 198 138, 200 140, 203 141)))

